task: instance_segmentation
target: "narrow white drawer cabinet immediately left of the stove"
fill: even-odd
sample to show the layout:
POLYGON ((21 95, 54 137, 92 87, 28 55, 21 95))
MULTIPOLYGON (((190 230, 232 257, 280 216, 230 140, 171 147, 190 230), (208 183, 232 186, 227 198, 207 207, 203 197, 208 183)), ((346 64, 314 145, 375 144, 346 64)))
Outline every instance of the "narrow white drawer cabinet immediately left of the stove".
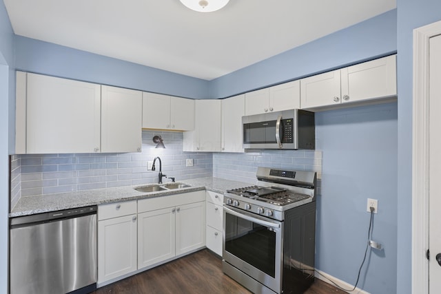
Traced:
POLYGON ((208 249, 222 256, 223 240, 223 195, 213 191, 206 191, 207 207, 207 238, 208 249))

